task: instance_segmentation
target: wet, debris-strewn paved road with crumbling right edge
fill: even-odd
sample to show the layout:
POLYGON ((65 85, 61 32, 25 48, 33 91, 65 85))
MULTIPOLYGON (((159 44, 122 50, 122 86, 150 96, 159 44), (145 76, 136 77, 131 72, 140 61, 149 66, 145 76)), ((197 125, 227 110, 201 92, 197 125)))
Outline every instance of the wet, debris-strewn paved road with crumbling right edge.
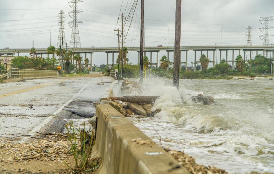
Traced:
POLYGON ((103 78, 113 81, 88 75, 0 84, 0 137, 24 142, 42 129, 60 131, 63 118, 92 116, 93 103, 115 84, 96 85, 103 78))

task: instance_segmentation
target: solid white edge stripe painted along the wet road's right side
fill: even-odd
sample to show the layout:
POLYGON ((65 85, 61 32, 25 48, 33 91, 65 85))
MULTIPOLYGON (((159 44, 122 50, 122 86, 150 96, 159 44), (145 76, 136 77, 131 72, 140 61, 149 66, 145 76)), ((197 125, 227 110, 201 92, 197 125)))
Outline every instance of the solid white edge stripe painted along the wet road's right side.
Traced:
MULTIPOLYGON (((98 77, 96 77, 95 79, 97 79, 98 77)), ((91 81, 93 81, 94 79, 92 79, 91 81)), ((46 124, 49 123, 50 120, 52 120, 57 114, 59 114, 70 102, 72 102, 72 100, 78 95, 80 94, 90 83, 91 81, 86 84, 77 94, 75 94, 70 100, 68 100, 65 104, 63 104, 59 109, 57 109, 57 111, 55 111, 52 115, 50 115, 49 117, 47 117, 42 123, 40 123, 37 127, 35 127, 32 131, 30 131, 26 137, 22 138, 18 143, 25 143, 29 138, 31 138, 30 136, 34 136, 42 127, 44 127, 46 124)))

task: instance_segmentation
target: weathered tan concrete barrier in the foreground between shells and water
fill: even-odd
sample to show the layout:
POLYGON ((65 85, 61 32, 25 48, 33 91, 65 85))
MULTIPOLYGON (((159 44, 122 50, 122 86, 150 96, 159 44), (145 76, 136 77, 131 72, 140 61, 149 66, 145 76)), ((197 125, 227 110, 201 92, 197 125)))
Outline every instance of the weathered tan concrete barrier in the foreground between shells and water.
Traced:
POLYGON ((108 104, 97 105, 96 144, 92 155, 101 157, 98 173, 108 174, 177 174, 186 173, 177 161, 151 138, 108 104), (150 144, 136 144, 141 138, 150 144))

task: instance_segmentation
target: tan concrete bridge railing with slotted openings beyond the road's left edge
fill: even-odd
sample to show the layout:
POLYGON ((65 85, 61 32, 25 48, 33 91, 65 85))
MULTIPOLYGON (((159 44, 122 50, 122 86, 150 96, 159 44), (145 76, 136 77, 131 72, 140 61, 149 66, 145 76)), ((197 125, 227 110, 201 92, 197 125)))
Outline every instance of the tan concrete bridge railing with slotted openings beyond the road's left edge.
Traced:
POLYGON ((51 70, 32 70, 32 69, 11 69, 12 77, 48 77, 48 76, 58 76, 58 71, 51 70))

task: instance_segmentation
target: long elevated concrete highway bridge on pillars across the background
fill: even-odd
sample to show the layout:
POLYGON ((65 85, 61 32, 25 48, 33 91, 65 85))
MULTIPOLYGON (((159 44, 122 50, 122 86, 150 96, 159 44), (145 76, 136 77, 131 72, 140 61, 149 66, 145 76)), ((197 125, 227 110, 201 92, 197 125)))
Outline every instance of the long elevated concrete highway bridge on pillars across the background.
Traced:
MULTIPOLYGON (((3 56, 5 54, 7 55, 15 55, 19 53, 29 53, 30 48, 17 48, 17 49, 0 49, 0 56, 3 56)), ((79 54, 84 54, 84 58, 87 58, 87 54, 90 54, 90 64, 92 66, 92 54, 94 52, 105 52, 107 54, 106 56, 106 64, 108 66, 112 66, 112 64, 109 64, 109 54, 112 54, 112 62, 114 62, 114 53, 118 53, 118 47, 90 47, 90 48, 69 48, 68 50, 73 51, 74 53, 79 53, 79 54)), ((41 57, 44 55, 47 55, 49 57, 49 54, 47 53, 47 48, 36 48, 37 54, 41 55, 41 57)), ((140 51, 140 47, 127 47, 127 51, 137 51, 139 53, 140 51)), ((158 52, 159 51, 166 51, 167 52, 167 58, 169 59, 169 52, 173 52, 174 51, 174 47, 162 47, 162 46, 158 46, 158 47, 144 47, 144 54, 146 55, 147 53, 150 53, 150 62, 152 62, 152 52, 156 52, 156 63, 151 63, 152 65, 156 65, 156 67, 158 67, 159 64, 159 59, 158 59, 158 52)), ((213 66, 215 66, 215 64, 217 63, 217 57, 215 56, 217 54, 217 52, 215 53, 215 51, 219 51, 218 54, 220 54, 220 60, 221 59, 225 59, 227 62, 232 62, 232 67, 234 67, 234 62, 235 62, 235 57, 237 55, 241 55, 241 51, 243 51, 243 57, 244 59, 251 59, 251 53, 253 51, 256 51, 256 55, 258 55, 258 51, 265 51, 266 55, 268 56, 269 52, 272 52, 272 55, 274 55, 274 49, 271 49, 270 46, 241 46, 241 45, 231 45, 231 46, 217 46, 215 47, 215 45, 213 46, 183 46, 181 47, 181 51, 185 51, 186 52, 186 62, 182 62, 181 64, 185 64, 187 65, 188 63, 188 51, 194 51, 194 71, 196 71, 196 63, 198 63, 199 61, 199 57, 200 55, 198 55, 198 59, 197 54, 206 54, 207 57, 209 57, 210 62, 213 63, 213 66), (198 51, 198 53, 197 53, 198 51), (213 55, 209 55, 209 51, 213 51, 213 55), (222 57, 222 52, 225 51, 225 56, 222 57), (232 51, 232 59, 228 58, 228 51, 232 51), (234 51, 236 51, 236 53, 234 54, 234 51), (246 58, 246 52, 250 52, 250 57, 246 58)), ((140 53, 139 53, 140 54, 140 53)), ((140 56, 138 56, 139 59, 140 56)), ((148 56, 149 57, 149 56, 148 56)), ((139 61, 138 61, 139 62, 139 61)))

